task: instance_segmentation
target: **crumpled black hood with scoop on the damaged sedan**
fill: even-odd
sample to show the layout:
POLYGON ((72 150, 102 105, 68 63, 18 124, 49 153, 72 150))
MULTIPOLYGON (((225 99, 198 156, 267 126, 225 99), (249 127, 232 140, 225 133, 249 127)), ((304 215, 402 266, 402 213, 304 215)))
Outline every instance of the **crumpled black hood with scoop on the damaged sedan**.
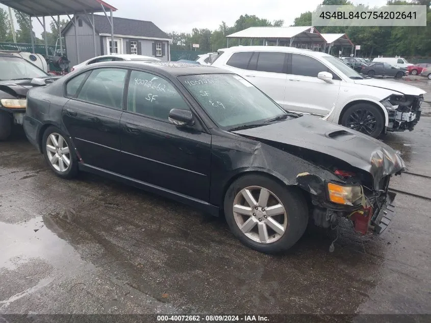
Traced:
POLYGON ((267 144, 283 143, 339 159, 370 173, 375 188, 383 177, 405 169, 401 157, 385 143, 312 116, 304 115, 234 133, 265 140, 267 144))

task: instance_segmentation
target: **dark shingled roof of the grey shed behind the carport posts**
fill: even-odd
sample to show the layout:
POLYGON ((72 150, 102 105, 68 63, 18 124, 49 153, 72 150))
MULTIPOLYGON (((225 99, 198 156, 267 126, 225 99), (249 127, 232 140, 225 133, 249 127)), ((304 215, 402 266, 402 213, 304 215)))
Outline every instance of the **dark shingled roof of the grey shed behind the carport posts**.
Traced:
MULTIPOLYGON (((91 26, 86 15, 81 15, 81 19, 91 26)), ((151 21, 120 17, 113 17, 113 21, 114 35, 117 36, 170 39, 168 34, 151 21)), ((69 23, 64 27, 62 34, 64 34, 71 26, 73 26, 73 24, 69 21, 69 23)), ((94 29, 97 34, 111 34, 111 24, 104 15, 94 15, 94 29)))

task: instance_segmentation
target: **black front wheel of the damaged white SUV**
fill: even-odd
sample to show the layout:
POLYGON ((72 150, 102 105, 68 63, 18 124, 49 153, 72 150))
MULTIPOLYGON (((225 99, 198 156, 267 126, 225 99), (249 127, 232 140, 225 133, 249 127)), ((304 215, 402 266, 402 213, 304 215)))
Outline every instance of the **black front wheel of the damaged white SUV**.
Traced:
POLYGON ((352 105, 344 112, 341 125, 377 138, 385 127, 385 118, 379 109, 367 103, 352 105))

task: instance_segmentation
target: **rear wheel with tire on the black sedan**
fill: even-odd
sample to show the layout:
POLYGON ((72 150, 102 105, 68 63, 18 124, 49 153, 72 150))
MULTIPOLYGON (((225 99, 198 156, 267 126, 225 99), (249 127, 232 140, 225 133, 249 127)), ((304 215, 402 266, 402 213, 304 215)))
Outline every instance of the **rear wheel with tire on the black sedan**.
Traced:
POLYGON ((58 177, 70 179, 78 174, 78 158, 70 139, 57 127, 49 127, 42 137, 43 156, 58 177))

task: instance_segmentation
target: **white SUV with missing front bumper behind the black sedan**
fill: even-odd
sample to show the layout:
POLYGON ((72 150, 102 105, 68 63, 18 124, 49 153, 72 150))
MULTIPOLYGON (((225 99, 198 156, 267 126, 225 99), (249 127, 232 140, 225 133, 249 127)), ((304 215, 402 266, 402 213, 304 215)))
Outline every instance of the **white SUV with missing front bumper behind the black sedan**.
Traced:
POLYGON ((212 66, 240 74, 285 110, 321 116, 374 138, 412 131, 426 93, 365 78, 331 55, 294 47, 223 48, 212 66))

